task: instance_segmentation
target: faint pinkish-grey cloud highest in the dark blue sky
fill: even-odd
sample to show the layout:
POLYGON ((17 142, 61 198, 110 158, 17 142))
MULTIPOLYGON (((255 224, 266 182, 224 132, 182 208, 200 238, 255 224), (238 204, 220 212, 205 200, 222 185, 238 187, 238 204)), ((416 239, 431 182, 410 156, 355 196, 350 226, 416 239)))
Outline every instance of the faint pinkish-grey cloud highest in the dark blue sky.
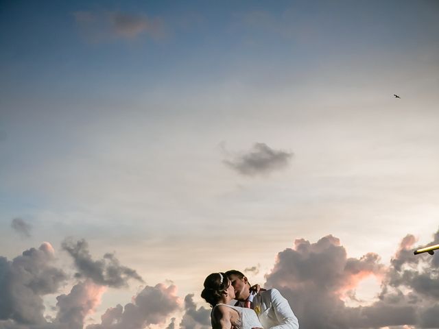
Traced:
POLYGON ((154 39, 167 34, 162 19, 126 12, 74 12, 73 17, 82 34, 91 42, 115 39, 133 40, 142 36, 154 39))

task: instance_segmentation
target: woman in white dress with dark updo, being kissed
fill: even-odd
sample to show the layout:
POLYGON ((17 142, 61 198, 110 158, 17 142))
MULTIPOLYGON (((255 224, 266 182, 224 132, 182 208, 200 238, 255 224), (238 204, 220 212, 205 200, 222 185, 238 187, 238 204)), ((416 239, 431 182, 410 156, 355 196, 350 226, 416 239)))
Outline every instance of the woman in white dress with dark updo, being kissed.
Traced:
POLYGON ((225 273, 212 273, 204 280, 201 297, 212 306, 211 322, 213 329, 252 329, 261 328, 261 322, 251 308, 231 306, 235 289, 225 273))

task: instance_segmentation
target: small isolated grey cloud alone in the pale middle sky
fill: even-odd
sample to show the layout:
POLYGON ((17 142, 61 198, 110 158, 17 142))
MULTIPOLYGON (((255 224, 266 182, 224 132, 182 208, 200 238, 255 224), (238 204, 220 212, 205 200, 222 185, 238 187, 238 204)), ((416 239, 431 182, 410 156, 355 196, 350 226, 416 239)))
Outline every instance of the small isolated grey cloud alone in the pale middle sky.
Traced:
POLYGON ((241 175, 263 175, 284 169, 292 156, 291 152, 272 149, 265 143, 255 143, 248 152, 224 160, 224 163, 241 175))

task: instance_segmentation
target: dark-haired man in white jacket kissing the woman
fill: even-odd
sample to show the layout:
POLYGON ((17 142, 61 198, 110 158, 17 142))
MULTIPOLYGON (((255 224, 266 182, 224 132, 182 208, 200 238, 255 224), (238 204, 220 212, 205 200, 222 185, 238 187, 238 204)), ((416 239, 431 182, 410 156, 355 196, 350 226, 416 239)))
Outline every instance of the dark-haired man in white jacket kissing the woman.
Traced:
MULTIPOLYGON (((235 269, 226 271, 226 276, 232 281, 233 288, 235 288, 235 299, 237 300, 235 306, 244 307, 245 302, 250 297, 248 279, 235 269)), ((261 289, 257 295, 254 295, 252 306, 264 329, 299 328, 296 315, 294 315, 288 301, 277 289, 261 289)))

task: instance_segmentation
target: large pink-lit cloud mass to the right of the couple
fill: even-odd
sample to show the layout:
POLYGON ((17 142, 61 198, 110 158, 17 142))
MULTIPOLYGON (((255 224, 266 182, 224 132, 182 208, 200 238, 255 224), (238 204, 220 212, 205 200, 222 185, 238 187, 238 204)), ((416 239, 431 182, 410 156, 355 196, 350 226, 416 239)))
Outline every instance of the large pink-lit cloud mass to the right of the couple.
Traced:
POLYGON ((294 249, 278 253, 265 286, 283 293, 302 329, 438 328, 438 267, 434 257, 413 255, 414 242, 413 236, 405 236, 385 267, 377 254, 348 258, 335 236, 316 243, 297 239, 294 249), (346 306, 344 301, 355 297, 357 284, 366 276, 381 279, 377 300, 370 306, 346 306))

